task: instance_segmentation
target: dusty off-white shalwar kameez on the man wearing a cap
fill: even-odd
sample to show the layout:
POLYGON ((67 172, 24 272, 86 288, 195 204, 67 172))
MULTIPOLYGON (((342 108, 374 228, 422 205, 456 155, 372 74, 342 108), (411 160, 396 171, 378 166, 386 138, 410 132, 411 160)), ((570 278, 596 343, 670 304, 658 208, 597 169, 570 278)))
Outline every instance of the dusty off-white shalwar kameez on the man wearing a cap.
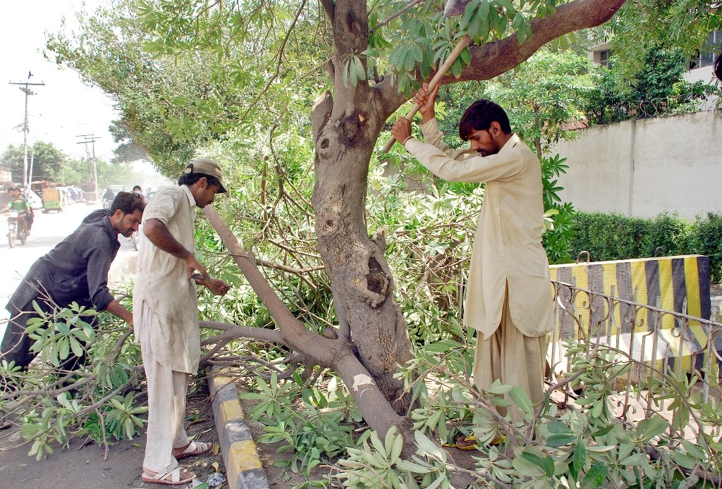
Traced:
MULTIPOLYGON (((158 190, 143 223, 158 219, 186 250, 195 252, 196 201, 186 185, 158 190)), ((183 428, 188 374, 196 374, 200 336, 196 284, 186 263, 160 250, 141 233, 133 291, 133 322, 148 381, 148 431, 143 467, 170 472, 178 467, 173 449, 190 440, 183 428)))

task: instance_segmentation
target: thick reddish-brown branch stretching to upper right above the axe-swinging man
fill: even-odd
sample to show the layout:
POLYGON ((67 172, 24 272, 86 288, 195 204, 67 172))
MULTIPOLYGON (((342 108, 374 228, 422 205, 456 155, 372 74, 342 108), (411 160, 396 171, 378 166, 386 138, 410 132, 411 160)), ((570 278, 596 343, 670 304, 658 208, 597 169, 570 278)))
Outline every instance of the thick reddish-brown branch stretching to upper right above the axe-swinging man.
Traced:
MULTIPOLYGON (((490 80, 514 69, 531 55, 536 53, 541 46, 552 40, 573 32, 575 30, 596 27, 603 24, 619 10, 626 0, 575 0, 569 4, 557 7, 557 12, 548 15, 543 19, 531 21, 531 38, 525 43, 519 44, 516 34, 512 34, 502 40, 493 43, 486 43, 479 46, 471 46, 471 63, 461 72, 461 76, 454 78, 451 75, 444 76, 441 84, 458 83, 471 80, 490 80)), ((435 72, 429 76, 434 76, 435 72)), ((396 112, 401 104, 406 102, 404 94, 399 94, 397 87, 391 85, 390 77, 387 77, 377 88, 383 94, 384 106, 389 115, 396 112)))

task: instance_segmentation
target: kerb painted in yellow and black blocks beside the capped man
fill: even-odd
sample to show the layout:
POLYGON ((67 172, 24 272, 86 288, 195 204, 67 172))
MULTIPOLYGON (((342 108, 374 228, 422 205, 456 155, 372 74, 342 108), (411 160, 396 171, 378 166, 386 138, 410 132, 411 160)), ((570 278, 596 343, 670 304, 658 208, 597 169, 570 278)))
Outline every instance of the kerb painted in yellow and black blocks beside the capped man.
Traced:
POLYGON ((208 377, 213 417, 230 489, 269 489, 233 379, 214 369, 208 377))

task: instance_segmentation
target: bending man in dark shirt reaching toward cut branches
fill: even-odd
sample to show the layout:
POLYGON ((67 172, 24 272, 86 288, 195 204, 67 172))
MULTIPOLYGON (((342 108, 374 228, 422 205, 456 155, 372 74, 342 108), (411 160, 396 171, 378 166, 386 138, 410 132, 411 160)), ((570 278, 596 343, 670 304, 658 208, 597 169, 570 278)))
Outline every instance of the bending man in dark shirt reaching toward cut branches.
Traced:
POLYGON ((137 231, 144 208, 139 196, 120 192, 110 212, 91 213, 69 237, 33 263, 6 306, 10 320, 0 345, 1 360, 25 369, 35 358, 30 351, 33 340, 25 335, 27 320, 39 316, 33 301, 44 312, 77 302, 133 325, 131 312, 108 291, 108 270, 121 247, 118 234, 129 237, 137 231))

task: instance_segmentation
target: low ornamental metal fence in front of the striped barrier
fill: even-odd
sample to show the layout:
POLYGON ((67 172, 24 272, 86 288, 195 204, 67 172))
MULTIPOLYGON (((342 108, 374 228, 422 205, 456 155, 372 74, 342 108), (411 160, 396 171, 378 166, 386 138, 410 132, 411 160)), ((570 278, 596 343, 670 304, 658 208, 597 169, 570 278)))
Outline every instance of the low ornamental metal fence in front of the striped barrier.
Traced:
MULTIPOLYGON (((590 351, 604 345, 634 360, 633 368, 616 384, 622 418, 627 416, 630 405, 641 408, 645 415, 664 410, 664 405, 660 406, 658 400, 651 402, 639 388, 650 379, 661 380, 662 373, 691 376, 696 372, 702 381, 701 392, 700 387, 695 387, 702 402, 708 402, 710 395, 718 397, 714 386, 722 365, 720 322, 687 315, 686 307, 679 313, 619 299, 614 289, 606 295, 560 281, 552 281, 552 286, 557 327, 549 349, 557 376, 570 371, 562 340, 575 338, 590 351), (710 392, 710 386, 714 392, 710 392)), ((713 314, 713 319, 718 317, 713 314)), ((571 389, 567 389, 567 395, 573 395, 571 389)))

